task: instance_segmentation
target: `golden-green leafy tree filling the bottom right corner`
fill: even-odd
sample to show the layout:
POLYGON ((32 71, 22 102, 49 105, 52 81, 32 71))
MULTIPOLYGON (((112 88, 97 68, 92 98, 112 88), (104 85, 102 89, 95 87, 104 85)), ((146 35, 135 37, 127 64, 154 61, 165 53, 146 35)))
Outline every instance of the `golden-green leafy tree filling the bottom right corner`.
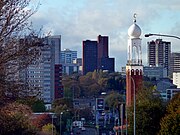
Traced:
POLYGON ((159 135, 180 134, 180 93, 176 94, 166 109, 166 115, 160 122, 161 130, 159 135))

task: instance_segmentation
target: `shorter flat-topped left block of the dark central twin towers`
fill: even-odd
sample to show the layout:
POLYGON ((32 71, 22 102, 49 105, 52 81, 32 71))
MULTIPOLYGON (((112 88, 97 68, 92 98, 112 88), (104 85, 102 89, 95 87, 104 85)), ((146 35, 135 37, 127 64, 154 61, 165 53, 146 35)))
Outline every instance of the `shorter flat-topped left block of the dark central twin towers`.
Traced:
POLYGON ((83 75, 93 72, 98 67, 98 48, 97 41, 83 41, 83 75))

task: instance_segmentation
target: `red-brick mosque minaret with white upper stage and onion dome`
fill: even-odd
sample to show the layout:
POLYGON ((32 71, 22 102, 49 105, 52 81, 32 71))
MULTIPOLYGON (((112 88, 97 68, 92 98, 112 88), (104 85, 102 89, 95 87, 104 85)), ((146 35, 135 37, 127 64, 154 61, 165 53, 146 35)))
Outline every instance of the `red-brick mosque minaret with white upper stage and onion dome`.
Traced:
POLYGON ((126 105, 131 106, 134 94, 142 86, 143 65, 141 52, 141 28, 136 24, 134 14, 133 24, 128 29, 128 58, 126 64, 126 105), (134 93, 135 92, 135 93, 134 93))

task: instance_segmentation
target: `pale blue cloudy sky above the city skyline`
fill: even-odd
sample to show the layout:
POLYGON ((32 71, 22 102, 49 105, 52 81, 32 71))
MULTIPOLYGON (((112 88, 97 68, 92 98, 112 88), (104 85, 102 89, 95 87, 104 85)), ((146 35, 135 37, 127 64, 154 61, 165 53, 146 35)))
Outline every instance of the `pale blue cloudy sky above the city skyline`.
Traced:
POLYGON ((127 61, 128 28, 137 14, 142 30, 142 60, 147 65, 147 42, 161 38, 171 42, 172 52, 180 52, 180 40, 149 37, 157 33, 180 37, 179 0, 32 0, 31 7, 40 3, 30 18, 34 28, 43 27, 43 34, 61 35, 61 50, 78 52, 82 57, 82 41, 97 40, 98 35, 109 36, 109 56, 115 58, 115 70, 127 61))

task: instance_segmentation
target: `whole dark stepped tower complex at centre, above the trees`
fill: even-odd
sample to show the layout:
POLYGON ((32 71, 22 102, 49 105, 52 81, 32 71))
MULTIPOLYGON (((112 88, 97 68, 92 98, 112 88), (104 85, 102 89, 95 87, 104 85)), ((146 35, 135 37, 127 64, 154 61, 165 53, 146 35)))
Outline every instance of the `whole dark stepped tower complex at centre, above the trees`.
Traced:
MULTIPOLYGON (((91 48, 94 48, 93 51, 96 50, 96 55, 94 56, 90 56, 91 55, 91 51, 85 51, 85 44, 86 46, 88 46, 87 44, 90 45, 90 40, 86 40, 86 41, 83 41, 83 62, 85 61, 89 61, 89 60, 86 60, 86 59, 89 59, 89 57, 91 57, 91 61, 92 61, 92 57, 94 59, 94 62, 96 62, 96 66, 92 66, 90 67, 88 65, 88 63, 83 63, 83 70, 85 71, 85 69, 87 68, 91 68, 91 70, 87 70, 88 72, 92 72, 94 70, 104 70, 104 71, 108 71, 108 72, 114 72, 114 63, 115 63, 115 59, 114 58, 109 58, 109 53, 108 53, 108 36, 101 36, 99 35, 98 38, 97 38, 97 41, 92 41, 91 44, 96 44, 94 46, 97 46, 97 47, 92 47, 91 48), (88 54, 89 53, 89 54, 88 54), (84 56, 88 56, 88 57, 84 57, 84 56), (96 60, 95 60, 96 59, 96 60)), ((87 47, 88 48, 88 47, 87 47)), ((92 63, 89 63, 89 64, 92 64, 92 63)), ((95 64, 95 63, 93 63, 95 64)), ((86 71, 83 72, 84 73, 87 73, 86 71)))

